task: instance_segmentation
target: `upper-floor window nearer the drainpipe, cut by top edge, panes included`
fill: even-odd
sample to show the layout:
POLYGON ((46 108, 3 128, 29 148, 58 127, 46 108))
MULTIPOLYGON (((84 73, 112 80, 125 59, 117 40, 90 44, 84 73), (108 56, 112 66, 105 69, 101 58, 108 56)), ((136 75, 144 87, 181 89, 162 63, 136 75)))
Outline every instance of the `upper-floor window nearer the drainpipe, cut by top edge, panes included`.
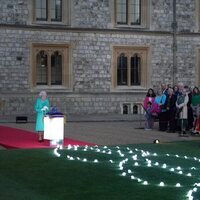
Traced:
POLYGON ((115 0, 116 26, 147 26, 148 0, 115 0))

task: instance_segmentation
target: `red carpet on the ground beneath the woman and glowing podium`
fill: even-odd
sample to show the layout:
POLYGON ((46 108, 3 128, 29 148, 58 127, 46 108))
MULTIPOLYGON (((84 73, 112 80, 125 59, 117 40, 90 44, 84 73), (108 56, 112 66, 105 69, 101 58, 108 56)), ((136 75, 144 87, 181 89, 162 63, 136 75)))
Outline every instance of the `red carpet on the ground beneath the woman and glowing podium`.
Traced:
MULTIPOLYGON (((65 138, 64 146, 69 144, 79 146, 94 145, 87 142, 65 138)), ((0 126, 0 145, 8 149, 51 148, 48 140, 39 143, 38 135, 36 133, 6 126, 0 126)))

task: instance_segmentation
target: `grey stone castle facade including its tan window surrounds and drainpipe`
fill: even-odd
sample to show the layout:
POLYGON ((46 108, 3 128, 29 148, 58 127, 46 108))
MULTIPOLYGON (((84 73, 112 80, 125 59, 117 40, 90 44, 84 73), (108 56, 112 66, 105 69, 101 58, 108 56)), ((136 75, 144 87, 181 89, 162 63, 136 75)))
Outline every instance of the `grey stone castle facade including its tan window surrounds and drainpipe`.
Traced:
MULTIPOLYGON (((140 14, 133 15, 140 20, 135 21, 129 19, 132 1, 127 15, 120 11, 122 1, 59 1, 60 15, 55 17, 53 11, 46 20, 40 17, 51 9, 42 2, 50 4, 48 0, 0 1, 1 116, 34 115, 41 90, 65 114, 123 113, 126 104, 132 113, 150 87, 163 82, 200 85, 198 0, 177 0, 175 13, 173 0, 133 1, 140 3, 140 14), (41 14, 42 9, 47 11, 41 14), (53 51, 63 52, 61 83, 53 84, 48 74, 51 78, 38 84, 37 52, 53 51), (129 68, 127 80, 118 76, 122 72, 118 67, 125 66, 120 64, 124 55, 132 56, 128 66, 139 67, 139 78, 132 78, 129 68)), ((52 57, 47 61, 53 62, 52 57)))

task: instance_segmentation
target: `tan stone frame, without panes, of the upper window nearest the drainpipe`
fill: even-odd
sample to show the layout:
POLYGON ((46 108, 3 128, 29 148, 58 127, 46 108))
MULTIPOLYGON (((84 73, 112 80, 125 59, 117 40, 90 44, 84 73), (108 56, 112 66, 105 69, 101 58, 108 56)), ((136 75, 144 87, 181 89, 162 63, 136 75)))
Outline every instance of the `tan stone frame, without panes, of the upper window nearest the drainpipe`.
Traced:
POLYGON ((117 23, 117 0, 114 0, 114 26, 116 28, 147 28, 149 25, 149 8, 150 8, 150 0, 141 0, 141 8, 140 8, 140 24, 131 24, 131 13, 130 13, 130 0, 127 0, 127 24, 119 24, 117 23))

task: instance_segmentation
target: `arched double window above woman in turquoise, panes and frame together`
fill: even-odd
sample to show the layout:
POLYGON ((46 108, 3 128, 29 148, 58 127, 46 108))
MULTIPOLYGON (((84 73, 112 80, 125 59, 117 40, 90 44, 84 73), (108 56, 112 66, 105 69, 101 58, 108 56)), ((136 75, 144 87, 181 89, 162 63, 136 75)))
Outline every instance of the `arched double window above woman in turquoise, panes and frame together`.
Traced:
POLYGON ((69 46, 33 45, 33 86, 70 87, 69 46))

